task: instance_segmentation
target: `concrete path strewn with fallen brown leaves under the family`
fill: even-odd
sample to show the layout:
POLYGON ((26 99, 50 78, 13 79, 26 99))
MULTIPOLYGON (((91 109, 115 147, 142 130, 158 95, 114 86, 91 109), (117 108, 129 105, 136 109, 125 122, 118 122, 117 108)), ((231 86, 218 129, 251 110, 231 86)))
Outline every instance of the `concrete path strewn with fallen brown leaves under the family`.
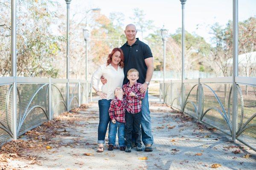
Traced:
POLYGON ((150 100, 153 152, 108 151, 105 146, 103 153, 96 153, 99 116, 97 103, 92 102, 4 145, 0 165, 16 170, 207 170, 213 164, 221 165, 218 170, 255 169, 253 150, 157 98, 150 100))

